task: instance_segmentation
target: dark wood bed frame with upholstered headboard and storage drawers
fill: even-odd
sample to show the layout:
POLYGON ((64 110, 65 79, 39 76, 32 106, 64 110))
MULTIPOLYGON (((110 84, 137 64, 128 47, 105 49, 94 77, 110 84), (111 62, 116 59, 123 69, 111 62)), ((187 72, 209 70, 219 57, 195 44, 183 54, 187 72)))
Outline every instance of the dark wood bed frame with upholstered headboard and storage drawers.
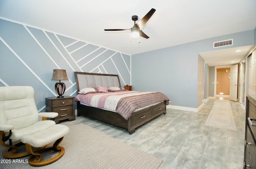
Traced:
MULTIPOLYGON (((74 72, 76 78, 77 93, 85 87, 97 86, 120 86, 118 75, 74 72), (118 85, 119 84, 119 85, 118 85)), ((85 106, 77 102, 77 116, 85 115, 120 128, 127 129, 130 134, 135 129, 146 122, 156 118, 160 114, 166 114, 166 102, 161 102, 153 106, 144 108, 132 113, 128 120, 125 120, 120 114, 100 108, 85 106)))

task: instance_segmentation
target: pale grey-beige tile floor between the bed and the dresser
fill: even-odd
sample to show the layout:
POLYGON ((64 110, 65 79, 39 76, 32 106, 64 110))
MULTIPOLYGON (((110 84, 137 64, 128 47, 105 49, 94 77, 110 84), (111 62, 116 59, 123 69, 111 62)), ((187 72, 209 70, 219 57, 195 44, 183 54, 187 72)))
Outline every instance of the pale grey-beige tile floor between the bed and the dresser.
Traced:
POLYGON ((196 112, 167 109, 166 115, 126 130, 80 116, 66 125, 84 123, 113 138, 163 160, 159 169, 242 169, 244 159, 245 110, 230 101, 237 131, 206 126, 214 99, 196 112))

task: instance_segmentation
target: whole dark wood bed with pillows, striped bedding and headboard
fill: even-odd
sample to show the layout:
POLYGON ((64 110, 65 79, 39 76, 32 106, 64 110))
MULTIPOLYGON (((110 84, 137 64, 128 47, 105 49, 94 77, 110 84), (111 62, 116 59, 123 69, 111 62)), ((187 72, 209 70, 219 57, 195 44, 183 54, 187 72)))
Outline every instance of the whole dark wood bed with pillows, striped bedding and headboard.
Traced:
POLYGON ((133 134, 139 126, 166 114, 166 105, 170 100, 160 92, 128 91, 122 88, 118 75, 84 72, 74 72, 74 75, 78 116, 88 116, 133 134), (102 100, 106 103, 102 104, 102 100))

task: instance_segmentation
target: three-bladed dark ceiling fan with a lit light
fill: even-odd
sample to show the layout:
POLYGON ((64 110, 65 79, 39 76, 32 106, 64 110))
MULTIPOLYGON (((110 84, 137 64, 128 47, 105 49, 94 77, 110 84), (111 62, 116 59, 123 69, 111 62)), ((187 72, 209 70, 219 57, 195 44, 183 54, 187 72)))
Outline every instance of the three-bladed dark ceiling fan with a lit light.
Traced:
POLYGON ((124 31, 124 30, 130 30, 132 32, 132 37, 138 37, 139 35, 141 37, 144 37, 148 39, 148 35, 146 35, 143 31, 142 28, 146 25, 148 20, 151 18, 151 16, 156 12, 154 8, 152 8, 140 21, 136 23, 138 20, 138 16, 133 15, 132 20, 134 21, 134 26, 130 29, 104 29, 105 31, 124 31))

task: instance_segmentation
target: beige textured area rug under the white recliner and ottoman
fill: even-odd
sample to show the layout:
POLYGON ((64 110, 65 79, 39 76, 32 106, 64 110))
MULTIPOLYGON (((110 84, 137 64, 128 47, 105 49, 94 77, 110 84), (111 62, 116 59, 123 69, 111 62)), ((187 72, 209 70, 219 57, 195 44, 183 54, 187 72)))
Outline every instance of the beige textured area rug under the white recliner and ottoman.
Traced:
MULTIPOLYGON (((0 160, 3 162, 0 163, 0 168, 157 169, 162 163, 162 159, 149 155, 85 124, 77 124, 69 126, 69 128, 70 132, 64 136, 64 140, 60 143, 60 146, 65 148, 65 153, 58 161, 42 167, 30 166, 27 163, 29 156, 19 158, 18 161, 13 159, 6 161, 2 157, 4 147, 0 146, 0 160)), ((45 155, 54 156, 51 153, 45 155)))

